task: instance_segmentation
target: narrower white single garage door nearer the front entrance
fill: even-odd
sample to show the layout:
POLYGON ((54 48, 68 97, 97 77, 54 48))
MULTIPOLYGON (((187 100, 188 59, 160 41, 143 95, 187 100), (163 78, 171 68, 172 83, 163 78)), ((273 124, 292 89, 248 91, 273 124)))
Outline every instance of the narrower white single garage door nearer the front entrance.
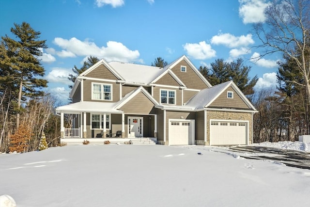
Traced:
POLYGON ((194 120, 169 120, 169 145, 194 144, 194 120))

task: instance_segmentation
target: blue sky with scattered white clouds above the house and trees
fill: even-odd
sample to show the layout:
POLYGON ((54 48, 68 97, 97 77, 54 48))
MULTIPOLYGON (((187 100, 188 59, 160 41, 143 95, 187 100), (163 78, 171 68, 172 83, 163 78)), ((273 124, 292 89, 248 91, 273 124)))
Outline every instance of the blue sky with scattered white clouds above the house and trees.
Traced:
POLYGON ((150 65, 186 55, 199 68, 216 59, 243 58, 258 75, 256 89, 274 87, 281 54, 252 58, 259 40, 252 23, 263 22, 268 0, 0 0, 0 36, 14 38, 26 21, 47 40, 42 64, 47 91, 66 102, 74 65, 88 56, 150 65))

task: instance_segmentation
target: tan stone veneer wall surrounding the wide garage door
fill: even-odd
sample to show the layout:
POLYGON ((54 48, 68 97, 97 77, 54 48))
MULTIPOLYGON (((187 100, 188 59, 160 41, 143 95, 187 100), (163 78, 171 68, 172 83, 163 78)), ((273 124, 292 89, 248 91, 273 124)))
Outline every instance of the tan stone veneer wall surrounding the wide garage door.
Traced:
MULTIPOLYGON (((253 123, 252 123, 252 113, 245 112, 228 112, 228 111, 207 111, 207 142, 205 145, 210 145, 210 119, 219 119, 219 120, 241 120, 248 121, 248 144, 252 144, 252 131, 253 131, 253 123)), ((199 144, 199 143, 197 143, 199 144)))

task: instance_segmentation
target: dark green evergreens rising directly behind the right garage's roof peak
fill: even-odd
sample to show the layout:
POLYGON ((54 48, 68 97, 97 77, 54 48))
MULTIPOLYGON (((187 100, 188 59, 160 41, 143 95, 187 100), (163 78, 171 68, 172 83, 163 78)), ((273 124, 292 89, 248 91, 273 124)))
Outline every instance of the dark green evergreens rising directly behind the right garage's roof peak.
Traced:
POLYGON ((241 58, 236 62, 227 63, 223 59, 217 59, 215 63, 211 63, 211 68, 207 66, 200 66, 199 70, 202 75, 211 83, 211 85, 217 85, 229 80, 239 87, 239 89, 245 94, 253 94, 253 87, 255 86, 258 78, 255 76, 249 79, 248 73, 250 66, 243 65, 241 58))

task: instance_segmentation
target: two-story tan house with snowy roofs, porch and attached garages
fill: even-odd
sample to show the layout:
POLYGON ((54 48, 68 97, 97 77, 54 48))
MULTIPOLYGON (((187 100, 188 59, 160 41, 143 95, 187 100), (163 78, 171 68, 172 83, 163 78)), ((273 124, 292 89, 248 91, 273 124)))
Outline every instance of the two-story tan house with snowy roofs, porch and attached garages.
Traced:
POLYGON ((233 81, 212 86, 186 56, 164 68, 100 60, 77 77, 70 97, 72 104, 56 109, 62 142, 119 136, 166 145, 252 143, 254 106, 233 81), (64 114, 73 117, 71 128, 64 114))

